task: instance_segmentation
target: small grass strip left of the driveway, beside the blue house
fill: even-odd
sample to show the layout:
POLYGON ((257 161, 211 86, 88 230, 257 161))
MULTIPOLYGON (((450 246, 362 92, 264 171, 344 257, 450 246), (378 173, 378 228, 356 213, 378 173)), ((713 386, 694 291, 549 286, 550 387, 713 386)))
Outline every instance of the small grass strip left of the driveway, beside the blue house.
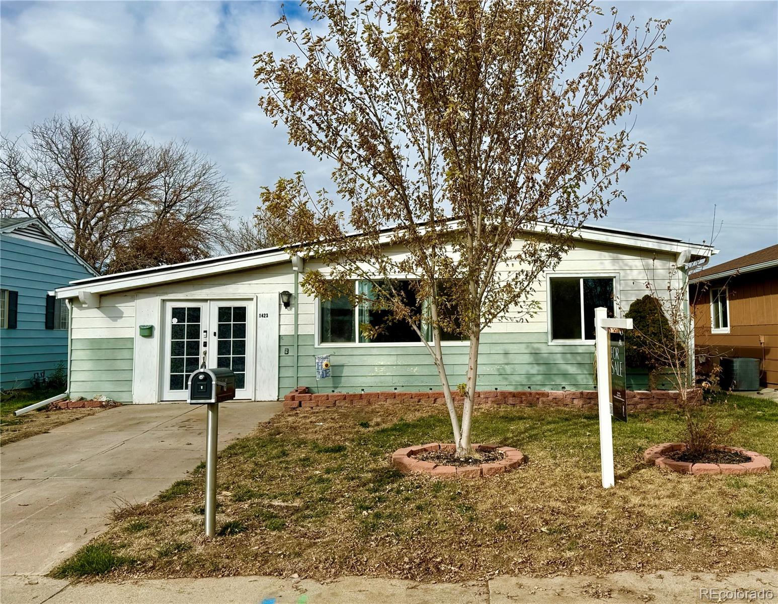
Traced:
POLYGON ((43 401, 51 396, 61 394, 64 388, 33 392, 30 390, 3 392, 0 399, 0 445, 21 441, 24 438, 44 434, 52 428, 80 420, 103 409, 57 409, 55 411, 39 409, 16 417, 13 412, 22 409, 33 402, 43 401))

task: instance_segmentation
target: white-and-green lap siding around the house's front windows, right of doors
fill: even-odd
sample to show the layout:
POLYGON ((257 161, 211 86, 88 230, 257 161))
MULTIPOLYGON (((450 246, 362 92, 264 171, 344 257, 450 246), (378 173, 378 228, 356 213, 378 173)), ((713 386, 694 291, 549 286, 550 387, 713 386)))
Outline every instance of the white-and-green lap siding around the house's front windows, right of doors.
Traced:
MULTIPOLYGON (((671 262, 670 255, 628 248, 613 248, 598 244, 581 244, 555 267, 555 273, 594 273, 618 275, 619 300, 617 314, 629 310, 637 298, 653 283, 660 295, 666 291, 671 262), (619 312, 620 311, 620 312, 619 312)), ((317 268, 310 263, 309 269, 317 268)), ((506 272, 506 271, 503 271, 506 272)), ((540 310, 532 315, 519 308, 511 309, 506 318, 495 321, 482 334, 478 355, 478 389, 500 390, 569 390, 595 388, 593 379, 594 345, 553 346, 548 344, 546 275, 535 284, 528 300, 537 300, 540 310), (517 321, 523 317, 523 321, 517 321)), ((332 377, 320 380, 321 392, 361 392, 362 390, 423 391, 440 390, 440 381, 431 356, 422 346, 314 346, 315 300, 300 297, 300 346, 298 376, 294 370, 294 339, 291 330, 282 325, 279 342, 279 396, 296 385, 317 391, 314 355, 333 353, 332 377)), ((289 314, 289 323, 291 315, 289 314)), ((282 321, 285 313, 282 311, 282 321)), ((443 360, 452 388, 465 381, 468 367, 468 346, 444 346, 443 360)), ((644 370, 628 373, 630 389, 647 387, 644 370)))

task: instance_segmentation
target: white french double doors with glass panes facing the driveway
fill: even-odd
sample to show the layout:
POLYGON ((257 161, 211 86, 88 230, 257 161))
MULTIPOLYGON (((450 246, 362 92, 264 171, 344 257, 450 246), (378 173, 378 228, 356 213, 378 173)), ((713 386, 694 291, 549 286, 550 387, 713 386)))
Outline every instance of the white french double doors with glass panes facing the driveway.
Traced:
POLYGON ((187 398, 192 371, 229 367, 235 373, 235 398, 254 392, 253 302, 211 300, 166 303, 163 400, 187 398))

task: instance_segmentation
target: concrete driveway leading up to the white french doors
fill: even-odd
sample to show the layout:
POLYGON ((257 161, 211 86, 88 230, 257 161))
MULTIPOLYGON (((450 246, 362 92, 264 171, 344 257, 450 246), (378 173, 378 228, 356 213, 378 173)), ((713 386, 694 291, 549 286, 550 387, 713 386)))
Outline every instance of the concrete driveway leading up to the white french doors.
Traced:
MULTIPOLYGON (((219 448, 282 408, 228 402, 219 448)), ((118 501, 151 499, 205 458, 205 407, 128 405, 0 449, 0 573, 51 571, 103 531, 118 501)))

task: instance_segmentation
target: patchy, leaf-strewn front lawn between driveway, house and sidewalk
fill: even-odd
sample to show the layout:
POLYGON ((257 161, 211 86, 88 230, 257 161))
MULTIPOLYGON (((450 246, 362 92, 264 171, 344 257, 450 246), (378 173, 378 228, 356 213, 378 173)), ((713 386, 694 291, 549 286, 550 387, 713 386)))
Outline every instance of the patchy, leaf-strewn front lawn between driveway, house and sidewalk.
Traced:
MULTIPOLYGON (((778 460, 775 402, 731 396, 713 406, 740 425, 729 444, 778 460)), ((517 447, 529 458, 481 480, 405 476, 389 465, 397 448, 450 442, 442 406, 286 413, 219 456, 220 536, 203 536, 198 467, 190 482, 117 515, 93 545, 121 561, 103 575, 113 578, 296 573, 462 581, 496 573, 774 567, 776 472, 692 477, 643 464, 646 448, 681 431, 675 411, 615 422, 616 486, 603 490, 596 413, 478 409, 478 442, 517 447)))

